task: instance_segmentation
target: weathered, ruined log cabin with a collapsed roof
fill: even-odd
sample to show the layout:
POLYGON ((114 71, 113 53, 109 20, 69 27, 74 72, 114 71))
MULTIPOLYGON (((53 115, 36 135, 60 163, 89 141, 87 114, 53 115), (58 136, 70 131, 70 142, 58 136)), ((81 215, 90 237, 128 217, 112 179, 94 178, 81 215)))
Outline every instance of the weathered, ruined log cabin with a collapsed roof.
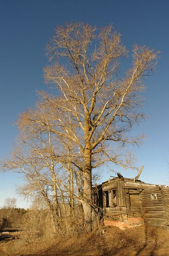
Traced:
POLYGON ((169 229, 169 186, 146 184, 137 177, 118 174, 97 187, 95 203, 104 209, 105 225, 146 223, 169 229))

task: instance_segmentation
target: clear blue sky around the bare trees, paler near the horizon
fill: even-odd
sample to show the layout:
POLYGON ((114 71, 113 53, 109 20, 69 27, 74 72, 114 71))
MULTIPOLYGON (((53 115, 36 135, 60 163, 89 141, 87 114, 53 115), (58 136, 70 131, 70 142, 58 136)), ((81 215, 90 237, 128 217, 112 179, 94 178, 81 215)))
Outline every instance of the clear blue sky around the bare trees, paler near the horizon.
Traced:
MULTIPOLYGON (((135 150, 140 179, 146 183, 169 183, 169 1, 168 0, 1 0, 0 2, 0 158, 11 150, 17 115, 33 107, 37 90, 49 90, 43 83, 47 64, 44 47, 57 25, 84 21, 97 27, 110 23, 122 35, 129 52, 136 42, 161 51, 155 74, 146 80, 144 112, 150 117, 137 130, 147 134, 144 145, 135 150)), ((125 171, 127 177, 136 173, 125 171)), ((102 181, 109 178, 103 174, 102 181)), ((0 173, 0 207, 15 197, 17 207, 26 204, 15 194, 22 177, 0 173)))

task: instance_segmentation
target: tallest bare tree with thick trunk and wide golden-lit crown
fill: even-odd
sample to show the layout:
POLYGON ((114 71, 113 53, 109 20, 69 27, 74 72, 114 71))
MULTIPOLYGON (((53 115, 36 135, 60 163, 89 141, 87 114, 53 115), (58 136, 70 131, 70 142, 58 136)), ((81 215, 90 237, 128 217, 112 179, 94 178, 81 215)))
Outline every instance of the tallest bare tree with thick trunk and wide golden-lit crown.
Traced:
POLYGON ((121 153, 121 146, 138 144, 142 137, 128 132, 138 124, 143 113, 143 80, 153 72, 157 53, 145 46, 133 47, 133 65, 120 71, 119 59, 127 50, 112 26, 97 29, 82 22, 66 23, 55 29, 46 47, 51 64, 44 69, 45 81, 54 83, 61 109, 57 134, 76 143, 83 158, 83 210, 86 230, 92 224, 92 169, 108 161, 130 167, 131 156, 121 153), (62 116, 64 113, 64 117, 62 116), (78 124, 72 130, 65 115, 78 124), (110 141, 112 149, 105 151, 110 141), (97 155, 102 159, 97 161, 97 155))

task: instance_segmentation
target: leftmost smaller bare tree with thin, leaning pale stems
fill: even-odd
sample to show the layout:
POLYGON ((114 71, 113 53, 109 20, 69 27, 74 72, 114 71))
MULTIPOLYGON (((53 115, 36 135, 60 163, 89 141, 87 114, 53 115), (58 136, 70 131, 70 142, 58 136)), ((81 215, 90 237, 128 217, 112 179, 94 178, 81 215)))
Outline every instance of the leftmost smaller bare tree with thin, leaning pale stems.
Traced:
POLYGON ((50 111, 43 104, 21 114, 16 121, 20 129, 18 145, 2 165, 4 169, 14 169, 25 175, 26 183, 18 191, 25 197, 42 197, 51 211, 53 225, 57 227, 61 215, 58 198, 61 175, 60 165, 55 160, 57 140, 48 128, 52 125, 50 118, 50 111), (46 126, 42 129, 44 122, 46 126))

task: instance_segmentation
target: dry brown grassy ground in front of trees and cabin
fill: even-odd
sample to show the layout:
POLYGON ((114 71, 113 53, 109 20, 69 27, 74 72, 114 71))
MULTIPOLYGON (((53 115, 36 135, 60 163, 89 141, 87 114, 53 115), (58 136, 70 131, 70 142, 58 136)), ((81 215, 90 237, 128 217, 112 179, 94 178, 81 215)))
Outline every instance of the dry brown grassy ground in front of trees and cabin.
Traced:
POLYGON ((83 234, 25 243, 20 233, 0 235, 0 256, 146 256, 169 255, 169 232, 144 225, 119 229, 105 227, 105 233, 83 234))

